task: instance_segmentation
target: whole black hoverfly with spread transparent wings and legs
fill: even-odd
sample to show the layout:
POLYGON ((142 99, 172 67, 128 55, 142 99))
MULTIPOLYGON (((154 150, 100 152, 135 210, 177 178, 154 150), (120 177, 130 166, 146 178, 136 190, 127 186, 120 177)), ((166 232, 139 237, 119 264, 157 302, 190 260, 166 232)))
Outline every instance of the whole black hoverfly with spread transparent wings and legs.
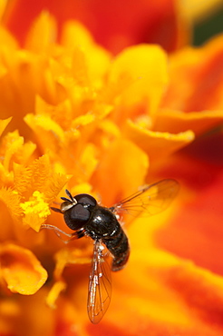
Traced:
POLYGON ((179 183, 175 180, 162 180, 142 187, 138 192, 125 198, 110 208, 103 207, 89 194, 82 193, 73 197, 66 190, 68 198, 61 197, 60 209, 64 221, 73 230, 69 234, 53 225, 44 224, 42 229, 53 229, 70 237, 70 240, 83 236, 92 238, 92 268, 89 277, 87 309, 90 321, 98 323, 102 320, 111 301, 111 271, 120 271, 130 256, 130 245, 127 235, 118 221, 121 212, 150 216, 164 211, 179 191, 179 183), (112 256, 111 266, 106 261, 106 250, 112 256))

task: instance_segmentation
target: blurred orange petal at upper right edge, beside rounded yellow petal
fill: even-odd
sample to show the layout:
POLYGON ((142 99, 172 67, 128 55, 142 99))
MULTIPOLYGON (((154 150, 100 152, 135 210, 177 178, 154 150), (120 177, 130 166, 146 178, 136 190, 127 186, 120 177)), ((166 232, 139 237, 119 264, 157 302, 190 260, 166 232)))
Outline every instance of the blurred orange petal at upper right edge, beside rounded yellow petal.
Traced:
POLYGON ((223 35, 170 57, 170 84, 162 106, 184 112, 222 110, 223 35))

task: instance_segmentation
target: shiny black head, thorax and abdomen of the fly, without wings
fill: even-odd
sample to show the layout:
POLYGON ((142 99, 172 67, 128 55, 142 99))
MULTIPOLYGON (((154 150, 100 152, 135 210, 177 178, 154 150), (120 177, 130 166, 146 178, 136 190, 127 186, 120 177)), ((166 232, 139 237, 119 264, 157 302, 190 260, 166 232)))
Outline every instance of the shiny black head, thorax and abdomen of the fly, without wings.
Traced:
MULTIPOLYGON (((66 192, 70 195, 68 191, 66 192)), ((61 212, 67 226, 75 230, 75 234, 80 238, 87 235, 93 241, 104 243, 114 257, 111 271, 121 270, 128 261, 130 246, 114 212, 100 206, 91 195, 86 193, 71 198, 71 201, 65 198, 63 200, 61 212), (73 203, 73 200, 76 200, 76 203, 73 203)))

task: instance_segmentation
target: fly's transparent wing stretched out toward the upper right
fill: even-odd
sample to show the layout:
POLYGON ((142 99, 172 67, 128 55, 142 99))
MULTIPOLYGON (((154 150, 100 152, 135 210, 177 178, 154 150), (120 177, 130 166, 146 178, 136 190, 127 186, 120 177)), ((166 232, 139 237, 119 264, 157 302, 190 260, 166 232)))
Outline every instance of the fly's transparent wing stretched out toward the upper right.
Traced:
POLYGON ((114 204, 112 212, 127 212, 138 215, 150 216, 167 209, 179 192, 179 183, 175 180, 161 180, 158 183, 143 186, 137 193, 114 204))

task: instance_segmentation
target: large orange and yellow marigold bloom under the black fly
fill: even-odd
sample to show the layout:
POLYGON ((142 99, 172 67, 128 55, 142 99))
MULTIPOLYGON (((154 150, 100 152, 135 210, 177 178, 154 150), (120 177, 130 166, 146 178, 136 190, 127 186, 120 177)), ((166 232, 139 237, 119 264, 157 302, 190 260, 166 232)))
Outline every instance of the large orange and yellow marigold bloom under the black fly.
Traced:
POLYGON ((170 58, 153 44, 114 57, 75 21, 63 25, 59 41, 45 12, 24 49, 3 26, 0 35, 0 333, 221 335, 222 267, 207 245, 222 251, 215 237, 221 208, 208 207, 215 183, 222 186, 222 162, 216 167, 207 144, 205 168, 191 155, 207 138, 188 145, 222 123, 222 37, 170 58), (130 262, 113 272, 110 310, 92 325, 92 242, 64 245, 40 231, 46 223, 70 232, 50 206, 65 186, 111 206, 165 177, 177 177, 181 193, 166 212, 131 219, 130 262), (199 211, 211 230, 209 222, 196 226, 199 211))

